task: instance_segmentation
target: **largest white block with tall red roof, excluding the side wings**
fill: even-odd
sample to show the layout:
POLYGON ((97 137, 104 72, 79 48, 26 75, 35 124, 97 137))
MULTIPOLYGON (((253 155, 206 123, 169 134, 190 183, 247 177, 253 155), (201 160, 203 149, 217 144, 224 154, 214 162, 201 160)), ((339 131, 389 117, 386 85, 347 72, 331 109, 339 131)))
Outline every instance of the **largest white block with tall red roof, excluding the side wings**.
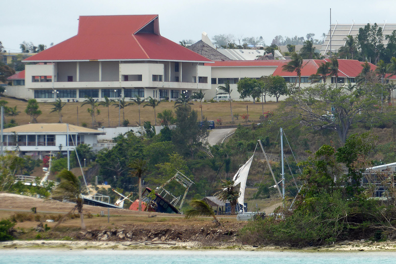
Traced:
POLYGON ((158 15, 80 16, 78 33, 24 62, 38 101, 136 96, 175 100, 208 90, 211 60, 160 35, 158 15), (52 99, 51 99, 52 98, 52 99))

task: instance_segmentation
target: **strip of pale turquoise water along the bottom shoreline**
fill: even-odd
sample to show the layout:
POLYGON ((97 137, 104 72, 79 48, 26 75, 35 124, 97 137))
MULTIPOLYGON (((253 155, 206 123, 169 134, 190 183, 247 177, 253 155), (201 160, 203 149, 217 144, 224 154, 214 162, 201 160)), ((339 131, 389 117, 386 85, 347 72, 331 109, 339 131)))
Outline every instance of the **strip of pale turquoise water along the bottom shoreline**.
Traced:
POLYGON ((396 252, 304 253, 192 250, 0 250, 7 264, 367 264, 396 263, 396 252))

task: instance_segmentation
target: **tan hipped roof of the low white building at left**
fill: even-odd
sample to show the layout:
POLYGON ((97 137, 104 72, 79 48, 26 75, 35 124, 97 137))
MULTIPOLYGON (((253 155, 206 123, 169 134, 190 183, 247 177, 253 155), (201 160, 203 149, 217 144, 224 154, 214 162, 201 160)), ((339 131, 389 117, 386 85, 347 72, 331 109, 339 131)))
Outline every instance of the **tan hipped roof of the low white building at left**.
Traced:
MULTIPOLYGON (((21 126, 14 126, 10 128, 6 128, 3 130, 3 133, 60 133, 65 134, 67 133, 67 124, 24 124, 21 126)), ((69 124, 69 133, 76 134, 76 133, 85 133, 85 134, 106 134, 106 132, 86 128, 83 126, 75 126, 73 124, 69 124)))

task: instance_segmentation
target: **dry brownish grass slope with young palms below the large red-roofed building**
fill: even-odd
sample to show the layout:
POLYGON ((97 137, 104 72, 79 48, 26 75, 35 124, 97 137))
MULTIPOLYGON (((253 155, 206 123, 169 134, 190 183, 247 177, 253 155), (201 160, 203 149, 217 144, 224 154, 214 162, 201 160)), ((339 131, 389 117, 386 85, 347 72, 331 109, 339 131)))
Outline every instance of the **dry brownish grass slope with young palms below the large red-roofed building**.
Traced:
MULTIPOLYGON (((17 117, 12 117, 15 121, 21 124, 27 124, 30 122, 30 117, 24 112, 27 102, 23 102, 20 100, 15 100, 7 97, 2 97, 1 100, 8 101, 8 107, 17 106, 18 111, 21 113, 17 117)), ((87 112, 88 105, 81 107, 82 102, 78 103, 66 103, 65 107, 63 107, 62 111, 62 121, 64 123, 81 125, 82 123, 88 124, 88 127, 92 126, 92 119, 89 113, 87 112), (78 109, 78 123, 77 123, 77 109, 78 109)), ((274 111, 278 107, 279 103, 276 102, 267 102, 264 104, 264 112, 266 111, 274 111)), ((51 112, 51 108, 53 107, 51 103, 39 103, 40 110, 42 111, 42 115, 37 118, 39 123, 58 123, 59 117, 57 113, 49 113, 51 112)), ((249 121, 258 122, 260 115, 262 112, 262 104, 253 102, 232 102, 232 113, 239 113, 240 115, 246 113, 246 106, 249 109, 249 121)), ((165 109, 172 109, 174 112, 174 103, 173 102, 161 102, 161 104, 156 107, 156 113, 160 113, 165 109)), ((193 109, 198 111, 198 119, 201 117, 201 109, 200 102, 194 102, 192 105, 193 109)), ((152 107, 144 107, 143 104, 140 107, 141 112, 141 122, 143 124, 144 121, 150 121, 154 124, 154 110, 152 107)), ((108 127, 107 120, 107 108, 100 106, 101 114, 96 117, 97 121, 103 122, 103 126, 108 127)), ((229 102, 216 102, 216 103, 203 103, 202 110, 204 116, 208 120, 217 121, 217 119, 221 119, 223 125, 231 124, 231 115, 230 115, 230 103, 229 102)), ((110 111, 110 127, 118 126, 118 105, 111 106, 109 108, 110 111)), ((9 121, 11 117, 6 117, 6 121, 9 121)), ((120 119, 122 122, 122 109, 120 114, 120 119)), ((138 114, 138 106, 128 106, 125 108, 125 119, 129 120, 129 124, 132 126, 136 126, 139 122, 139 114, 138 114)), ((157 120, 158 121, 158 120, 157 120)), ((236 124, 243 123, 241 117, 239 120, 235 119, 236 124)), ((158 122, 157 122, 158 124, 158 122)), ((218 124, 216 123, 216 126, 218 124)))

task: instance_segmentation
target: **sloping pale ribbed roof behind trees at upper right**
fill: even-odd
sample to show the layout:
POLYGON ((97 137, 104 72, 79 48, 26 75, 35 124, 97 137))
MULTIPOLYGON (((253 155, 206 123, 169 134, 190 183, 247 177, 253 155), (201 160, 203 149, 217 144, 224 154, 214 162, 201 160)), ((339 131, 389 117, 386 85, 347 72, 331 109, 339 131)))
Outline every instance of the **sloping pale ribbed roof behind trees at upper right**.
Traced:
MULTIPOLYGON (((327 52, 330 51, 330 32, 331 32, 331 51, 338 51, 339 48, 345 46, 346 37, 348 35, 356 38, 359 33, 359 28, 364 28, 367 24, 332 24, 331 30, 326 34, 326 38, 324 43, 322 44, 322 48, 320 49, 320 54, 325 55, 327 52)), ((374 23, 370 23, 370 25, 374 25, 374 23)), ((383 43, 386 45, 388 44, 388 40, 385 39, 385 36, 392 35, 392 32, 396 30, 396 24, 388 24, 384 23, 377 23, 379 28, 382 28, 383 34, 383 43)))

